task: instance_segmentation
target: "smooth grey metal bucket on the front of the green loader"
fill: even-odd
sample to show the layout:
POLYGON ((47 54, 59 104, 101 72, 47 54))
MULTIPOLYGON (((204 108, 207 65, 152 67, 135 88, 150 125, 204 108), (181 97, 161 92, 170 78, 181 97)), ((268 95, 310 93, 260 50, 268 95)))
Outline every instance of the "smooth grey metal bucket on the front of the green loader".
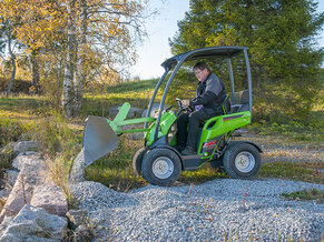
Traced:
POLYGON ((119 139, 106 118, 89 115, 82 140, 86 167, 116 149, 118 142, 119 139))

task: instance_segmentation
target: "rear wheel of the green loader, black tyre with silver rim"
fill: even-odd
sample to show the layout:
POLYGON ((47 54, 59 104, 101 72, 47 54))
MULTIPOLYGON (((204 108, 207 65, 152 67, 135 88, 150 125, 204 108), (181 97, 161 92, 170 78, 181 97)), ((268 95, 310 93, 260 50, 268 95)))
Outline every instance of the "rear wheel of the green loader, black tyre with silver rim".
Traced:
POLYGON ((251 179, 254 178, 261 168, 259 151, 246 142, 232 143, 224 155, 224 169, 230 178, 251 179))

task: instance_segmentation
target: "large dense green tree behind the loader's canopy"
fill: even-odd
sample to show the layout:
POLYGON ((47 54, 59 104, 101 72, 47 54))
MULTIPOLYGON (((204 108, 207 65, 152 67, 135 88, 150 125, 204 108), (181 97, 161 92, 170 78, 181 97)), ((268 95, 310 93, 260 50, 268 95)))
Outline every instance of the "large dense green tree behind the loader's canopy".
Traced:
POLYGON ((317 4, 314 0, 190 0, 190 10, 170 40, 171 51, 248 47, 259 118, 305 119, 321 84, 323 48, 316 47, 315 38, 324 14, 316 13, 317 4))

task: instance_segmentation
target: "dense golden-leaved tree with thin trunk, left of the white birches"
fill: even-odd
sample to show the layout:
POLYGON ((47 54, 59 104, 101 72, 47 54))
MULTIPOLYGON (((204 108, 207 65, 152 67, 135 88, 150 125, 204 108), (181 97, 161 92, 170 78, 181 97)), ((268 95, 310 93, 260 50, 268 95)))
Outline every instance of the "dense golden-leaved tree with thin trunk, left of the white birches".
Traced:
POLYGON ((65 23, 61 11, 55 1, 3 0, 0 12, 9 23, 4 30, 7 33, 10 30, 16 43, 23 47, 23 54, 30 58, 32 83, 37 91, 40 79, 39 53, 60 39, 58 30, 65 23))

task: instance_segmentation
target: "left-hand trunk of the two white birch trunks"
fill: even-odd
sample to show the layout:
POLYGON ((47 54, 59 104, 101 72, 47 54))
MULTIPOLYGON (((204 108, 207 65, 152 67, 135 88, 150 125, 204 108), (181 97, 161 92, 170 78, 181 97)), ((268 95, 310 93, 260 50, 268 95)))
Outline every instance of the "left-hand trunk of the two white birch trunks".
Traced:
POLYGON ((68 51, 62 87, 62 107, 67 117, 73 115, 73 72, 76 65, 76 0, 67 1, 68 11, 68 51))

